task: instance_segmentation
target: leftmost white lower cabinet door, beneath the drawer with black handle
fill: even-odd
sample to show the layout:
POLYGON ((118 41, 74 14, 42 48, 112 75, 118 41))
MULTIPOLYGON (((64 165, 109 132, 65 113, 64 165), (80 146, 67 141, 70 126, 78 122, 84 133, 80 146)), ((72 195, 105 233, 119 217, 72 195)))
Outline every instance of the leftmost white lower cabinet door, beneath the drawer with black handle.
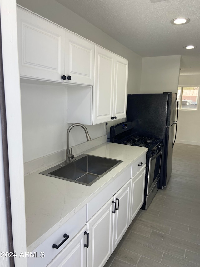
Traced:
POLYGON ((55 257, 48 267, 86 267, 86 253, 87 238, 84 235, 86 226, 72 239, 72 241, 65 247, 57 257, 55 257))

